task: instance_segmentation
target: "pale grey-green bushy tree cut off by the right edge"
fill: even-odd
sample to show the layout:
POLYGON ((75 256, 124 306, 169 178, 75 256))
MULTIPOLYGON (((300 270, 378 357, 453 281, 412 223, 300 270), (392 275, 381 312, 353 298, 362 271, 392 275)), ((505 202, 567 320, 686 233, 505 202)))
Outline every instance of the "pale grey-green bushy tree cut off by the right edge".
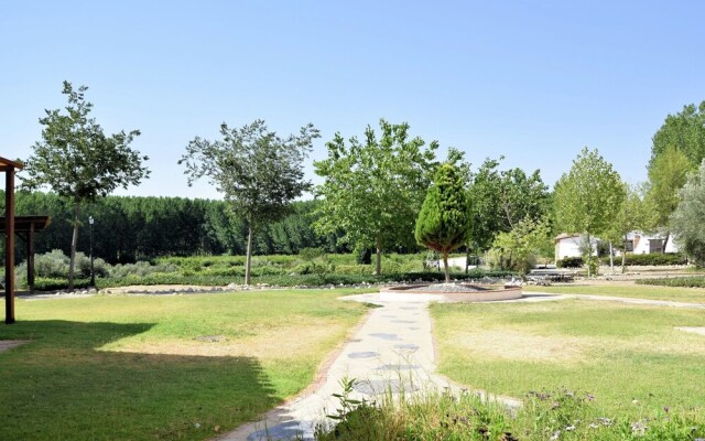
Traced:
POLYGON ((698 266, 705 265, 705 160, 688 175, 680 192, 681 203, 671 216, 671 227, 685 254, 698 266))

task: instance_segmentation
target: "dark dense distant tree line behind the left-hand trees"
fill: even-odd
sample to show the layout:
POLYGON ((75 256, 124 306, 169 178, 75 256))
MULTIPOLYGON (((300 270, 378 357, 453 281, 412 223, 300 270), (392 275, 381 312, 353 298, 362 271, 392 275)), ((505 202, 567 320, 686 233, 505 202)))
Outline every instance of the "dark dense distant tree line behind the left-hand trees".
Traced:
MULTIPOLYGON (((3 192, 0 192, 3 194, 3 192)), ((0 206, 4 196, 0 197, 0 206)), ((15 215, 47 215, 52 223, 35 235, 35 252, 70 251, 73 205, 54 193, 18 192, 15 215)), ((303 248, 348 252, 337 245, 341 234, 316 234, 311 223, 316 201, 293 203, 293 213, 256 232, 256 255, 297 254, 303 248)), ((86 204, 77 249, 88 254, 93 216, 94 255, 109 263, 150 260, 158 256, 245 255, 248 226, 242 216, 228 211, 224 201, 185 197, 107 196, 86 204)), ((25 259, 22 239, 17 240, 18 261, 25 259)))

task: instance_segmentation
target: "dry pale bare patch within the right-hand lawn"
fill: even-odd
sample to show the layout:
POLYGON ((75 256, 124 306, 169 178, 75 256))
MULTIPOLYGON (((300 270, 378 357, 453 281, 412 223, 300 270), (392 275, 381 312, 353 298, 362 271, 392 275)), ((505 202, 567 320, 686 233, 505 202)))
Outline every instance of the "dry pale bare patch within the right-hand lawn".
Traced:
POLYGON ((544 336, 513 330, 455 333, 452 341, 458 347, 484 357, 564 364, 585 359, 593 346, 584 338, 544 336))

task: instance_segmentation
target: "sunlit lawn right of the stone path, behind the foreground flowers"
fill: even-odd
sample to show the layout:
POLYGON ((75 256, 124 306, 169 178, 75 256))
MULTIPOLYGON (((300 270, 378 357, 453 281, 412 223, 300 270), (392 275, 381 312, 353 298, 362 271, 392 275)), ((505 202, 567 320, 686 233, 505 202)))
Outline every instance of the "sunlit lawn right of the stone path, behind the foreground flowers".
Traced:
POLYGON ((590 392, 611 415, 705 408, 703 311, 582 300, 432 306, 440 370, 473 388, 590 392), (637 400, 637 404, 632 401, 637 400))

